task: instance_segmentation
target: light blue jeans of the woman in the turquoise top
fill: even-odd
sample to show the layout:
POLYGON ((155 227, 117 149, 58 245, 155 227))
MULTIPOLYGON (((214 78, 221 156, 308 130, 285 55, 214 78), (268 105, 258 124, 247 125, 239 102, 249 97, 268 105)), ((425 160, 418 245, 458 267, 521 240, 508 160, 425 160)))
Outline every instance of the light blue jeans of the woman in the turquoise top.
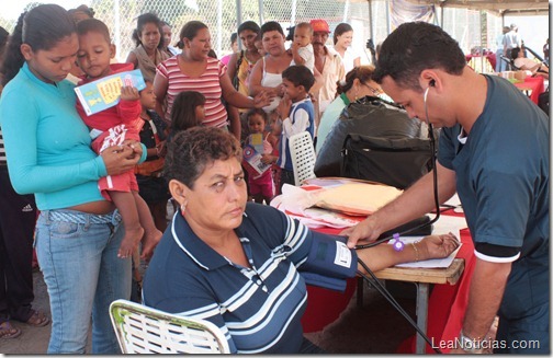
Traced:
POLYGON ((91 316, 92 353, 121 353, 109 307, 131 297, 131 257, 117 258, 121 220, 115 226, 91 223, 93 217, 98 216, 46 210, 36 222, 36 253, 52 311, 48 354, 83 354, 91 316), (53 218, 57 213, 78 220, 53 218))

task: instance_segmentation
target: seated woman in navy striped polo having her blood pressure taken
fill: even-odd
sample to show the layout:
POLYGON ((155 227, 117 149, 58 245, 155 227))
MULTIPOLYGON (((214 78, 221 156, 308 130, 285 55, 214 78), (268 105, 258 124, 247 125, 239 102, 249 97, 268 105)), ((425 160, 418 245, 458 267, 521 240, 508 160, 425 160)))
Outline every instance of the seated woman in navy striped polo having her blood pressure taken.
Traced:
POLYGON ((247 203, 241 149, 229 132, 195 127, 169 145, 166 175, 180 205, 146 272, 144 303, 215 323, 233 354, 321 353, 304 338, 306 281, 345 286, 359 269, 445 257, 452 235, 349 250, 345 238, 312 232, 283 212, 247 203), (326 253, 320 255, 321 253, 326 253), (323 257, 321 257, 323 256, 323 257))

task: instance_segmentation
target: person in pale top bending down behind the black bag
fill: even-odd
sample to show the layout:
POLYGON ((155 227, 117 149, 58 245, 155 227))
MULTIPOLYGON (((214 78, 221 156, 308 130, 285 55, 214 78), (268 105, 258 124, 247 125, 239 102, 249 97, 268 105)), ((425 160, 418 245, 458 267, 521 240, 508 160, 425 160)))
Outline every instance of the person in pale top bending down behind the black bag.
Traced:
POLYGON ((346 74, 346 80, 337 83, 337 96, 326 108, 323 117, 320 117, 319 127, 317 129, 317 143, 315 151, 318 153, 326 137, 330 132, 332 125, 342 113, 343 108, 353 101, 362 99, 365 95, 381 96, 383 94, 379 83, 371 80, 374 71, 373 66, 359 66, 353 68, 346 74))

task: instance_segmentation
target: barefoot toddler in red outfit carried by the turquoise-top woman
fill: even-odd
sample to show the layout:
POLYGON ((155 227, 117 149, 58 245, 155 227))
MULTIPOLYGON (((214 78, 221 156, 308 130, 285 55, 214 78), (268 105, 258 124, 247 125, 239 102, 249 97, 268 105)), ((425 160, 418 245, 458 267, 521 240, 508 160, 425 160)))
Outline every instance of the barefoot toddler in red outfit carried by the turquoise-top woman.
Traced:
MULTIPOLYGON (((97 19, 83 20, 78 23, 77 33, 79 35, 77 62, 86 73, 81 84, 115 72, 133 70, 132 63, 110 65, 110 60, 115 56, 115 46, 111 44, 110 31, 103 22, 97 19)), ((77 103, 77 111, 82 120, 91 128, 94 151, 100 153, 108 147, 123 145, 126 139, 140 140, 138 127, 144 123, 139 117, 142 112, 136 88, 123 86, 117 105, 97 114, 88 116, 81 104, 77 103)), ((132 256, 143 235, 145 242, 158 242, 161 239, 161 231, 156 228, 148 205, 138 195, 138 184, 133 171, 102 177, 98 185, 102 196, 113 200, 117 207, 125 228, 117 257, 132 256)))

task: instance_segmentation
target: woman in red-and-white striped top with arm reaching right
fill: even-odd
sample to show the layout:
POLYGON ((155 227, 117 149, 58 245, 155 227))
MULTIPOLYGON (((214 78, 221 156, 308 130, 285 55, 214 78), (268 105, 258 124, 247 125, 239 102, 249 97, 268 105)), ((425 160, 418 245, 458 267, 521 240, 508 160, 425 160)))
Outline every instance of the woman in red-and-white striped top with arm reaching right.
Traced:
POLYGON ((179 45, 182 53, 159 63, 154 80, 156 111, 168 122, 174 96, 182 91, 198 91, 205 96, 203 124, 213 127, 227 126, 228 116, 222 97, 238 108, 261 108, 270 103, 271 96, 266 92, 253 99, 237 92, 225 76, 226 66, 207 57, 211 35, 204 23, 190 21, 184 24, 179 45))

